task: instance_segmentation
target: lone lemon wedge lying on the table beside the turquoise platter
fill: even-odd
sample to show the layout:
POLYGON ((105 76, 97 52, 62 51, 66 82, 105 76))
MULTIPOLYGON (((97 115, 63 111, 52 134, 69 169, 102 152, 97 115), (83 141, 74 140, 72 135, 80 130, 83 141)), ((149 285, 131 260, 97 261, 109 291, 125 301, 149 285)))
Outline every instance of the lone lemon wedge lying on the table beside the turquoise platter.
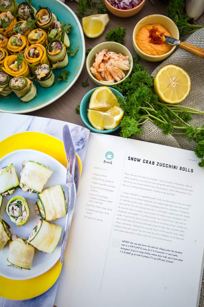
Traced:
POLYGON ((100 36, 109 22, 108 14, 91 15, 82 18, 82 29, 83 33, 87 37, 98 37, 100 36))

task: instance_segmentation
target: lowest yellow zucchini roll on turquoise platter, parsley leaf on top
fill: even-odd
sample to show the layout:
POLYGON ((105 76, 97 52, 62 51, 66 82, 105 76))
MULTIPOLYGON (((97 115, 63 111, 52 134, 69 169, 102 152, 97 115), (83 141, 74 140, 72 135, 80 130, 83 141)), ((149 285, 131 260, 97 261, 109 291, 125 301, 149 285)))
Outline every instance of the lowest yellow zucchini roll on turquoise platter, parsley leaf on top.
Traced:
POLYGON ((4 60, 4 67, 2 67, 3 71, 5 71, 10 76, 24 76, 30 77, 31 72, 28 67, 28 63, 23 60, 20 65, 17 64, 17 55, 7 56, 4 60))

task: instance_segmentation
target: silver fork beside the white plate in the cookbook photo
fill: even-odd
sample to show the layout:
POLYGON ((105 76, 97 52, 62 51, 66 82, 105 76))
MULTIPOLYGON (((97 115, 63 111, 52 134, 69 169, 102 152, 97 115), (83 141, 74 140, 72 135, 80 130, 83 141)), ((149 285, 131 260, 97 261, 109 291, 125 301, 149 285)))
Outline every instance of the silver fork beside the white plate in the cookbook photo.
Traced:
POLYGON ((72 148, 70 148, 69 150, 69 157, 68 157, 68 162, 67 162, 66 186, 68 188, 68 202, 66 206, 67 215, 66 215, 65 231, 64 231, 64 236, 62 240, 61 255, 60 255, 61 263, 64 260, 66 243, 67 243, 67 239, 69 235, 69 229, 71 226, 71 220, 69 221, 69 217, 70 217, 70 204, 71 204, 71 188, 72 188, 72 185, 74 184, 74 168, 75 168, 75 159, 76 159, 76 149, 74 150, 74 156, 72 159, 72 165, 71 165, 72 173, 70 173, 71 153, 72 153, 72 148))

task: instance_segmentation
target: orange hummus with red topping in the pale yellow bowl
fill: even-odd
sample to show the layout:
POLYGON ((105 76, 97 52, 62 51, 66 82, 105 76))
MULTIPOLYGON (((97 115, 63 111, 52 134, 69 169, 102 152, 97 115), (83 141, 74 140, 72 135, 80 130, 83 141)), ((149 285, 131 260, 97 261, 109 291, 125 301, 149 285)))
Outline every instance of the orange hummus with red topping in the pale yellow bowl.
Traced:
POLYGON ((169 52, 172 46, 165 42, 164 35, 171 36, 171 33, 160 23, 145 25, 139 29, 135 41, 140 50, 151 55, 160 56, 169 52))

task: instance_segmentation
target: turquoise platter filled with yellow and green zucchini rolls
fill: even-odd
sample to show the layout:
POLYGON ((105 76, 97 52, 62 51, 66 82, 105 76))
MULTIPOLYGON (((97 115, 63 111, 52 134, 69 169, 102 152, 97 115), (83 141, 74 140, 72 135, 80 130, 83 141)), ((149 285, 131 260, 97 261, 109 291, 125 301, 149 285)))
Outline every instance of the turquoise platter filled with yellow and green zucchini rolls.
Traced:
POLYGON ((26 113, 54 102, 77 80, 84 59, 83 31, 68 6, 0 2, 0 111, 26 113))

